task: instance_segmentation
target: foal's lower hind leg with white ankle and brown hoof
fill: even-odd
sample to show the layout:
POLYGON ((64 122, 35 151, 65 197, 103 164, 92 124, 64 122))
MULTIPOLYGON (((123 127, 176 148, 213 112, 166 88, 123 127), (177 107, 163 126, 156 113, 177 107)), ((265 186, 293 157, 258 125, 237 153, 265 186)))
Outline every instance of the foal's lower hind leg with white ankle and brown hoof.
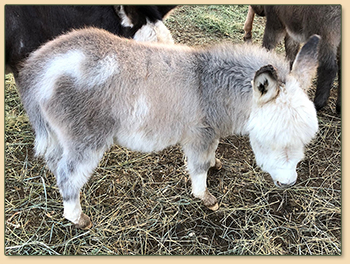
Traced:
POLYGON ((57 185, 63 199, 63 216, 73 222, 77 228, 88 229, 92 226, 90 218, 82 212, 80 190, 89 180, 97 167, 103 152, 85 150, 84 154, 68 152, 57 165, 57 185))

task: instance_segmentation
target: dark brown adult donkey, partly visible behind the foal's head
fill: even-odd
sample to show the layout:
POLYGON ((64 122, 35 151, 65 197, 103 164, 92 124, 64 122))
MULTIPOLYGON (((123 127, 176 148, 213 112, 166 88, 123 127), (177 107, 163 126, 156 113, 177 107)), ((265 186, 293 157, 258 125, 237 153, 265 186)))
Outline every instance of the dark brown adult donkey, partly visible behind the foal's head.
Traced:
POLYGON ((263 47, 274 49, 284 38, 287 58, 293 63, 299 44, 313 35, 321 36, 315 107, 322 109, 338 72, 336 110, 341 111, 341 6, 340 5, 266 5, 249 7, 244 39, 251 39, 254 13, 266 16, 263 47))

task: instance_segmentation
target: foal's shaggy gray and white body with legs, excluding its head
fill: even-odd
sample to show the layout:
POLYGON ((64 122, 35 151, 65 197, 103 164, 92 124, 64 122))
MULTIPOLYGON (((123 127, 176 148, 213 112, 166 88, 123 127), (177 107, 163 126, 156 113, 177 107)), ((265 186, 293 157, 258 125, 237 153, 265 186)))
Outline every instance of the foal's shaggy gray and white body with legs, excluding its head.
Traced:
MULTIPOLYGON (((257 46, 140 44, 85 29, 34 52, 18 87, 36 133, 36 153, 56 175, 66 203, 79 203, 80 188, 113 143, 146 152, 180 143, 194 195, 213 206, 216 199, 201 177, 215 164, 220 137, 248 133, 251 81, 265 65, 286 82, 288 63, 257 46), (196 193, 201 184, 205 192, 196 193)), ((69 220, 89 221, 82 214, 82 224, 78 209, 68 207, 69 220)))

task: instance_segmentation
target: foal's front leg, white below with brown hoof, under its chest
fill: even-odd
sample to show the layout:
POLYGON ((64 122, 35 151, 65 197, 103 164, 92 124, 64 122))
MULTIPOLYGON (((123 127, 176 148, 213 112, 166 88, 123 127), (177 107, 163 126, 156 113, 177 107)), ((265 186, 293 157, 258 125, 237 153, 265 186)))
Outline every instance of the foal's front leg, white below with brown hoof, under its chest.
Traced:
POLYGON ((216 211, 219 205, 217 199, 207 189, 207 172, 210 166, 217 164, 215 150, 218 143, 219 140, 214 140, 201 146, 198 144, 184 146, 187 168, 192 181, 192 195, 201 199, 204 205, 213 211, 216 211))

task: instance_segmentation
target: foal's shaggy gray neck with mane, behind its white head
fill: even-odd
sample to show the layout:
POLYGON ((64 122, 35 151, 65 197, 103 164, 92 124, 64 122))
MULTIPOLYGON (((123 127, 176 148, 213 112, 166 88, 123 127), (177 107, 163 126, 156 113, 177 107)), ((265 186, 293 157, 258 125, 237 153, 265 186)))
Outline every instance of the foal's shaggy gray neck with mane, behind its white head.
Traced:
POLYGON ((275 52, 256 45, 221 44, 198 51, 198 76, 207 122, 221 136, 247 134, 252 111, 251 81, 257 70, 272 64, 281 81, 289 63, 275 52))

